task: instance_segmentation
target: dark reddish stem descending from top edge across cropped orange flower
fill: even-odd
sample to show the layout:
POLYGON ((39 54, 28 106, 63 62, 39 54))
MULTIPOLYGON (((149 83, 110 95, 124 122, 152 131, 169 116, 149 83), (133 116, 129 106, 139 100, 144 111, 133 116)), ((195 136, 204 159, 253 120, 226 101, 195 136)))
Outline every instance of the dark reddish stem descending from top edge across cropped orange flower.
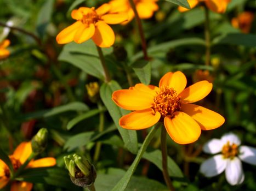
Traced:
POLYGON ((144 59, 145 59, 146 61, 149 61, 149 56, 147 56, 147 44, 146 44, 146 39, 145 39, 145 35, 144 35, 144 32, 143 32, 143 27, 142 27, 142 23, 141 23, 141 20, 140 20, 138 11, 137 11, 137 9, 136 9, 136 6, 135 6, 133 0, 129 0, 129 3, 130 3, 130 6, 131 6, 132 9, 133 9, 133 12, 134 12, 134 15, 135 15, 135 19, 136 19, 136 22, 137 22, 137 25, 138 25, 139 34, 140 34, 140 40, 141 40, 141 46, 142 46, 143 54, 144 54, 144 59))

